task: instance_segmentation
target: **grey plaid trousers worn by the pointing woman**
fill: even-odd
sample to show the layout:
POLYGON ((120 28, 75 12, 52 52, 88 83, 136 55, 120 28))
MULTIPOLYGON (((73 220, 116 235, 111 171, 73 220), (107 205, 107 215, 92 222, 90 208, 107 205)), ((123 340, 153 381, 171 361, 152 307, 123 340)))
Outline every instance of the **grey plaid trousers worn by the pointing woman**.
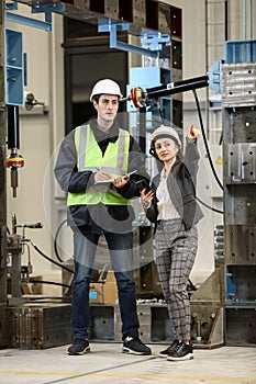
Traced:
POLYGON ((185 230, 180 219, 160 221, 154 238, 154 259, 167 303, 174 338, 190 340, 191 313, 187 283, 198 249, 198 230, 185 230))

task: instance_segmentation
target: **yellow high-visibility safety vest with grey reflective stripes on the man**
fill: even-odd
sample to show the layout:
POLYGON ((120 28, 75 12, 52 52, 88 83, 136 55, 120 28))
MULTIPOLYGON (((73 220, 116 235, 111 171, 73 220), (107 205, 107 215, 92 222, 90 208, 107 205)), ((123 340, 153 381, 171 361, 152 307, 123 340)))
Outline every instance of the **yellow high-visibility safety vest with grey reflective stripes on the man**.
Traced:
MULTIPOLYGON (((109 143, 102 154, 90 125, 78 126, 75 131, 75 147, 77 151, 77 168, 79 172, 102 169, 113 178, 127 173, 130 134, 119 129, 119 138, 115 143, 109 143)), ((130 200, 123 197, 114 189, 107 185, 102 188, 92 185, 82 193, 68 193, 67 205, 90 205, 90 204, 127 205, 130 200)))

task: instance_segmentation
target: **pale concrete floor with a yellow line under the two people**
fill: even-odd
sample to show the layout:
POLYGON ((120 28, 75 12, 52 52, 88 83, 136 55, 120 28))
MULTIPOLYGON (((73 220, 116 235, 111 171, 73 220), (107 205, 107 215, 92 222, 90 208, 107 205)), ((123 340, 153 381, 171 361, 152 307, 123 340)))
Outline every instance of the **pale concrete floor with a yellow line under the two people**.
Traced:
POLYGON ((196 349, 194 359, 170 362, 157 353, 121 353, 121 343, 91 343, 91 352, 70 357, 68 346, 44 350, 0 350, 0 383, 4 384, 248 384, 256 383, 256 348, 196 349))

